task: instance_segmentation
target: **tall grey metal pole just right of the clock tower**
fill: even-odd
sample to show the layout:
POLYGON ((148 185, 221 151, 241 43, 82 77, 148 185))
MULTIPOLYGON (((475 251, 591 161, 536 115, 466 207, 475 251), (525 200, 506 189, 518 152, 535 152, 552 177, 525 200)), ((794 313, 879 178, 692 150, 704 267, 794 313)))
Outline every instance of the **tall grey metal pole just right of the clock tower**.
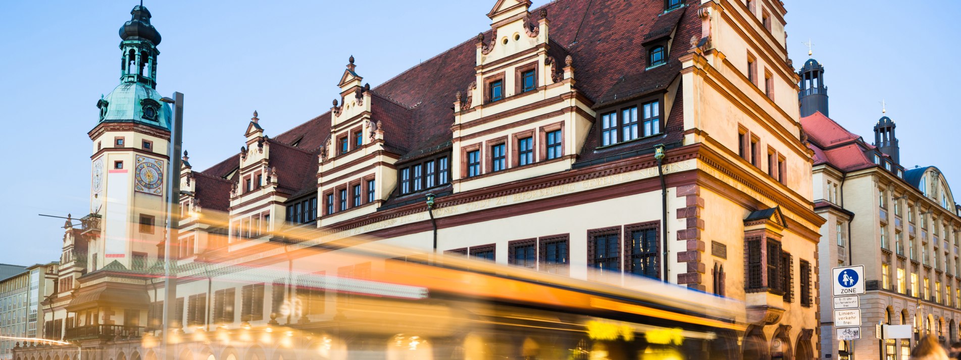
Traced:
MULTIPOLYGON (((164 98, 164 102, 167 98, 164 98)), ((179 213, 174 211, 177 204, 180 204, 180 168, 181 154, 184 141, 184 94, 174 92, 173 98, 174 116, 173 123, 170 125, 170 151, 167 153, 168 164, 170 165, 167 174, 167 225, 166 239, 163 244, 163 337, 161 346, 163 348, 163 358, 174 360, 173 348, 170 344, 171 326, 174 323, 177 310, 177 269, 176 257, 171 255, 170 244, 177 239, 177 227, 179 213)))

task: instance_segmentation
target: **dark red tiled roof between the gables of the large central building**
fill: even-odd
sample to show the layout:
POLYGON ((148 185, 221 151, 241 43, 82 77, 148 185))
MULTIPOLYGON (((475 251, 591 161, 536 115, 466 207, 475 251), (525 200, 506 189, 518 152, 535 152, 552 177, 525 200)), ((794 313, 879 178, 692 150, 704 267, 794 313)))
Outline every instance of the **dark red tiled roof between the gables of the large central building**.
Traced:
MULTIPOLYGON (((685 2, 687 7, 700 4, 697 0, 685 2)), ((678 77, 678 58, 689 49, 688 40, 701 35, 701 20, 696 11, 687 11, 685 7, 664 13, 662 2, 554 0, 542 8, 547 10, 551 27, 548 54, 561 65, 568 55, 572 57, 577 87, 595 103, 595 108, 663 91, 678 77), (668 63, 647 69, 646 49, 642 46, 645 38, 671 31, 675 31, 675 36, 668 63)), ((538 20, 539 13, 531 11, 531 21, 538 20)), ((491 37, 489 29, 485 37, 491 37)), ((372 116, 380 122, 389 148, 411 158, 449 146, 455 95, 476 80, 476 49, 476 38, 468 39, 373 88, 372 116)), ((677 106, 680 98, 677 97, 671 118, 665 123, 669 128, 682 126, 678 120, 682 116, 682 107, 677 106)), ((275 137, 274 141, 279 143, 297 143, 297 149, 271 145, 271 162, 277 164, 283 187, 300 186, 295 190, 301 192, 315 187, 311 182, 317 170, 314 156, 330 135, 330 116, 330 112, 324 113, 275 137)), ((582 154, 593 153, 597 145, 594 140, 598 136, 593 131, 589 137, 582 154)), ((642 143, 650 146, 638 142, 631 147, 642 143)), ((627 148, 618 150, 624 152, 627 148)), ((238 165, 239 156, 231 156, 204 172, 224 178, 238 165)))

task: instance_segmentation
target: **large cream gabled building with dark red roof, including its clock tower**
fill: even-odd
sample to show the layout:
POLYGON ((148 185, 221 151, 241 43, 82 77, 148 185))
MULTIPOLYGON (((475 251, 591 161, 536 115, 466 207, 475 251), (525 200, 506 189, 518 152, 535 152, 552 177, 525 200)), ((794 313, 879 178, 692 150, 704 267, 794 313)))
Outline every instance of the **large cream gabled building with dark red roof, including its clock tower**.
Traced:
MULTIPOLYGON (((276 268, 361 278, 369 268, 329 268, 277 244, 366 235, 430 251, 432 216, 438 252, 742 300, 747 317, 733 320, 749 326, 724 355, 813 358, 824 219, 784 12, 753 0, 556 0, 533 12, 499 0, 488 32, 379 86, 352 57, 329 112, 277 136, 255 112, 236 156, 205 171, 184 156, 173 325, 350 319, 333 292, 323 309, 284 319, 284 301, 305 295, 276 268), (318 228, 328 235, 297 236, 318 228)), ((88 133, 91 213, 64 237, 59 278, 74 282, 44 319, 63 324, 58 338, 130 358, 161 326, 170 129, 155 90, 160 34, 146 8, 132 15, 122 84, 88 133)))

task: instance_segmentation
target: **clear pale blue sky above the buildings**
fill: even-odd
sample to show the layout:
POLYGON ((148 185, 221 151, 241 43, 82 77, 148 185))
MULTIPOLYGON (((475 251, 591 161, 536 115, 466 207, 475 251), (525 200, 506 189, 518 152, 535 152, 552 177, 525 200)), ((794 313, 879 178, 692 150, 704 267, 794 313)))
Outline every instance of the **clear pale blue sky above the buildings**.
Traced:
MULTIPOLYGON (((601 0, 595 0, 601 1, 601 0)), ((631 0, 642 1, 642 0, 631 0)), ((643 0, 659 1, 659 0, 643 0)), ((185 93, 185 150, 205 169, 243 145, 251 113, 276 135, 331 107, 347 58, 381 84, 489 29, 494 0, 154 1, 163 36, 158 90, 185 93)), ((534 6, 547 3, 535 0, 534 6)), ((63 221, 89 211, 86 132, 95 104, 119 83, 117 29, 136 1, 0 1, 0 263, 57 260, 63 221)), ((961 194, 961 129, 954 115, 961 73, 957 1, 785 0, 790 57, 815 43, 830 112, 873 141, 886 99, 906 167, 936 165, 961 194), (941 64, 945 62, 945 64, 941 64)))

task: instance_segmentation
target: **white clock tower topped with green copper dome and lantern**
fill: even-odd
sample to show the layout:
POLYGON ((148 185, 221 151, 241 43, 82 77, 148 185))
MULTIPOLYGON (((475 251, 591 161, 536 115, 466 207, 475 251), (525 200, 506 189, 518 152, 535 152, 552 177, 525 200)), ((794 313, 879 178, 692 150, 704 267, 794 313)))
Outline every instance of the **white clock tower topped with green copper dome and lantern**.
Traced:
POLYGON ((136 6, 131 15, 120 27, 120 84, 97 101, 99 120, 87 133, 89 216, 99 220, 88 233, 88 272, 114 261, 143 270, 164 238, 171 109, 156 90, 160 33, 147 8, 136 6))

